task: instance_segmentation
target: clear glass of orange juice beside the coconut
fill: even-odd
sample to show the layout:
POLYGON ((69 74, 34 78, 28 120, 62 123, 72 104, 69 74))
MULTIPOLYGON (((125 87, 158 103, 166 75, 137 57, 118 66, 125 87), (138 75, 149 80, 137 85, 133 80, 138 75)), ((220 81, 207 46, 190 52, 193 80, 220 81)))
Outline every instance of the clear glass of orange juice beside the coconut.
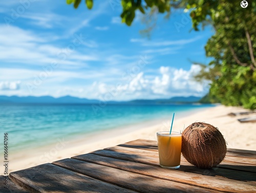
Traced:
POLYGON ((181 133, 158 132, 158 153, 160 166, 169 169, 180 167, 181 133))

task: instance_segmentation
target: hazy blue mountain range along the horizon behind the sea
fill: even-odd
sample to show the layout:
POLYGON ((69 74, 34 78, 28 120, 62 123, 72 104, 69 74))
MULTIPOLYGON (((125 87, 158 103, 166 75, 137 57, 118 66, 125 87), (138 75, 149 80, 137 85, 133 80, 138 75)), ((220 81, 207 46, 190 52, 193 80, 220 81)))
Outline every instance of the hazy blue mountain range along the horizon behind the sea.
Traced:
MULTIPOLYGON (((189 96, 189 97, 172 97, 169 99, 154 99, 154 100, 131 100, 131 101, 108 101, 109 103, 192 103, 198 102, 201 97, 189 96)), ((27 97, 18 97, 18 96, 0 96, 0 103, 79 103, 79 104, 86 104, 86 103, 98 103, 99 100, 94 99, 86 99, 86 98, 77 98, 72 96, 63 96, 59 98, 54 98, 51 96, 41 96, 41 97, 34 97, 34 96, 27 96, 27 97)))

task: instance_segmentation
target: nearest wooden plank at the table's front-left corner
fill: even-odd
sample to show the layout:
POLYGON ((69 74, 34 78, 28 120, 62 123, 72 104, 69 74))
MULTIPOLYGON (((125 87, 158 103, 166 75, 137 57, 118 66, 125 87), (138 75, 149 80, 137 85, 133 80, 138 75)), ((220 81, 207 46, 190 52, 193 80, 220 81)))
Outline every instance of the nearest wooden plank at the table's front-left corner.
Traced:
POLYGON ((10 178, 31 192, 134 192, 49 163, 15 171, 10 178))

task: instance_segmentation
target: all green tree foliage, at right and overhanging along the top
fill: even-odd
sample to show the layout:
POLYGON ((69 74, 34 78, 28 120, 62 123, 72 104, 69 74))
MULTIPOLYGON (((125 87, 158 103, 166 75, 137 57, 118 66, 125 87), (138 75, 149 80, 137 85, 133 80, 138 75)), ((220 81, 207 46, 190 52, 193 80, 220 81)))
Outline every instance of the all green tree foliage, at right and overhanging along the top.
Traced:
MULTIPOLYGON (((109 0, 114 1, 114 0, 109 0)), ((116 1, 116 0, 115 0, 116 1)), ((214 58, 208 66, 202 66, 195 76, 198 81, 211 80, 207 97, 225 105, 243 105, 256 109, 256 2, 247 0, 242 8, 238 0, 120 0, 121 18, 132 25, 136 12, 166 13, 171 8, 190 11, 193 29, 210 24, 215 34, 207 41, 206 56, 214 58)), ((93 0, 86 0, 89 9, 93 0)), ((81 0, 67 0, 77 8, 81 0)))

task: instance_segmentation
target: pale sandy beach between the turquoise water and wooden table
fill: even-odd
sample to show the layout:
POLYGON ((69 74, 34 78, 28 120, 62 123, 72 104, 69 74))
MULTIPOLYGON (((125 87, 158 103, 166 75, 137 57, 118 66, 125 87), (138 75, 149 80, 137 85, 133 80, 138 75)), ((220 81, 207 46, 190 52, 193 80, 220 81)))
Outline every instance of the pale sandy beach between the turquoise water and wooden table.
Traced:
MULTIPOLYGON (((229 148, 256 150, 256 123, 240 123, 237 119, 253 115, 228 116, 229 113, 246 112, 238 107, 218 105, 201 112, 179 115, 174 121, 173 131, 183 128, 196 121, 210 123, 219 128, 229 148)), ((255 116, 255 114, 254 114, 255 116)), ((172 115, 170 115, 172 117, 172 115)), ((136 139, 156 140, 156 132, 169 130, 170 120, 159 120, 133 125, 130 128, 108 131, 98 135, 82 136, 74 141, 56 139, 56 143, 29 152, 11 154, 9 172, 25 169, 39 164, 51 163, 72 156, 87 154, 105 147, 115 146, 136 139)), ((3 175, 0 172, 0 175, 3 175)))

